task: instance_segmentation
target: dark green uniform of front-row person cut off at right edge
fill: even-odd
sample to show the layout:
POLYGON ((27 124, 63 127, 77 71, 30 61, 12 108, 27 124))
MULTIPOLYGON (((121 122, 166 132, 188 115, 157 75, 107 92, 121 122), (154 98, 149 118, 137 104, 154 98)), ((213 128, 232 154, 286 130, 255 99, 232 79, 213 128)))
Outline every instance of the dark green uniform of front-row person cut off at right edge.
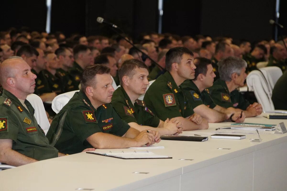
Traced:
POLYGON ((276 82, 273 92, 272 101, 275 109, 287 110, 287 71, 276 82))

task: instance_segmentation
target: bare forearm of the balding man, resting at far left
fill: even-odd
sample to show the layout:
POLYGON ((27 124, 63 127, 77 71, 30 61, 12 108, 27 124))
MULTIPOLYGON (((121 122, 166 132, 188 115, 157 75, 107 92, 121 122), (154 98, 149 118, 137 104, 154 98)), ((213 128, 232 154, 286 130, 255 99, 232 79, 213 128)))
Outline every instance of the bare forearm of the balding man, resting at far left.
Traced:
POLYGON ((32 162, 37 162, 37 160, 27 157, 12 149, 9 149, 7 151, 3 151, 3 154, 1 154, 0 162, 11 166, 21 166, 24 164, 30 164, 32 162))

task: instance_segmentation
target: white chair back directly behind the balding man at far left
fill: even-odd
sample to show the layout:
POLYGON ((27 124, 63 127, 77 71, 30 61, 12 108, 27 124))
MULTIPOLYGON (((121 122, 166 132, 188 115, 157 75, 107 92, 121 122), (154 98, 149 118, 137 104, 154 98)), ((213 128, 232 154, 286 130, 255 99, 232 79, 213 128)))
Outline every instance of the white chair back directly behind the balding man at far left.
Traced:
POLYGON ((38 124, 43 129, 45 134, 47 134, 50 123, 46 115, 46 111, 43 105, 43 102, 39 96, 36 94, 29 94, 27 100, 31 103, 32 107, 35 110, 34 117, 36 118, 38 124))

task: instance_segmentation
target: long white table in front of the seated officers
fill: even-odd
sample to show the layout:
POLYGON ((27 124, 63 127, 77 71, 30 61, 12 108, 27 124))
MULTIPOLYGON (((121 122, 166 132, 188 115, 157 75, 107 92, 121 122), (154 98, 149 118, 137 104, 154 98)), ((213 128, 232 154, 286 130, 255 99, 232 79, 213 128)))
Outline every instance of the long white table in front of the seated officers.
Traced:
MULTIPOLYGON (((287 125, 287 120, 264 117, 245 120, 266 124, 282 121, 287 125)), ((184 134, 200 135, 228 124, 210 123, 208 130, 184 134)), ((158 145, 165 148, 152 150, 172 159, 122 160, 77 153, 1 171, 0 190, 286 190, 286 135, 261 135, 261 143, 250 142, 251 134, 242 140, 210 136, 205 142, 162 140, 158 145)))

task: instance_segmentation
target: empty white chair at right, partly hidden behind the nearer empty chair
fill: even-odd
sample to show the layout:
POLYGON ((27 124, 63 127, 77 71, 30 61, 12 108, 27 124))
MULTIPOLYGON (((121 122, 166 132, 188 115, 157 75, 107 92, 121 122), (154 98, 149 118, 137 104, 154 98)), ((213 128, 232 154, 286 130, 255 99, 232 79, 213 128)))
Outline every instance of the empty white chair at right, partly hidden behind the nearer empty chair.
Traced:
POLYGON ((260 68, 260 70, 266 78, 269 87, 273 91, 277 80, 282 76, 282 70, 277 66, 268 66, 260 68))

